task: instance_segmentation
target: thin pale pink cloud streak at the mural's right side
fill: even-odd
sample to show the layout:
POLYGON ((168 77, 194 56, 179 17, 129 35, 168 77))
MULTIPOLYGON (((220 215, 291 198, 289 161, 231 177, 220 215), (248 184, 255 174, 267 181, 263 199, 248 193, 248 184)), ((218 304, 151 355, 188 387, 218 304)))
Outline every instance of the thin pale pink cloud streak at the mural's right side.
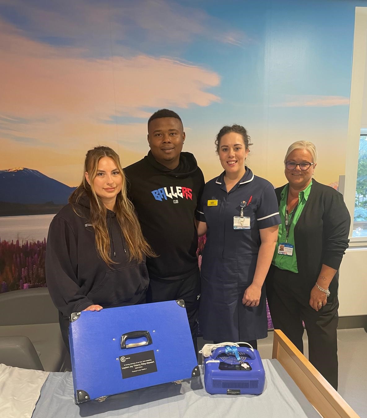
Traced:
POLYGON ((272 104, 271 107, 331 107, 347 105, 349 105, 349 97, 304 94, 286 95, 284 102, 272 104))

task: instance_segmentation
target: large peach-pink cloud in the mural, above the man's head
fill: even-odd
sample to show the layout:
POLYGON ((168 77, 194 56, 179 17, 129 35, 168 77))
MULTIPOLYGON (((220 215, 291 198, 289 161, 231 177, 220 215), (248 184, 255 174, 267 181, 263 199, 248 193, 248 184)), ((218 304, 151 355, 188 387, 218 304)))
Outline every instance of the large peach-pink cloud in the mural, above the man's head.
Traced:
POLYGON ((146 117, 149 112, 141 111, 146 107, 208 106, 220 100, 206 91, 219 85, 219 76, 199 66, 146 55, 83 59, 69 48, 31 41, 14 31, 1 35, 0 112, 5 115, 146 117))

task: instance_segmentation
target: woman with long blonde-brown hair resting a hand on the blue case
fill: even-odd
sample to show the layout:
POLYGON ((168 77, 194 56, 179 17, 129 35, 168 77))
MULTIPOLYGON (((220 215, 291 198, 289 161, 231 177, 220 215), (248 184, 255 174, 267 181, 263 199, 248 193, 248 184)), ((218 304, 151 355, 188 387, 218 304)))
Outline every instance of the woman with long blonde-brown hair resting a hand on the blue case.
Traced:
POLYGON ((46 281, 67 347, 72 312, 145 302, 146 255, 155 256, 126 196, 118 155, 103 146, 89 150, 83 180, 47 239, 46 281))

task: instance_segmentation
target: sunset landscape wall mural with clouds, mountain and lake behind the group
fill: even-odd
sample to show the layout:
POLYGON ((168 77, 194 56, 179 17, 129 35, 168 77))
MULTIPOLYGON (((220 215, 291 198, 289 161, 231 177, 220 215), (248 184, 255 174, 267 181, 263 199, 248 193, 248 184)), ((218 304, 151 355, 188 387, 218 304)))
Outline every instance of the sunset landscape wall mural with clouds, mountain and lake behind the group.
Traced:
POLYGON ((137 161, 162 107, 181 116, 206 181, 221 172, 216 133, 239 123, 249 166, 274 187, 288 146, 312 140, 315 177, 337 188, 357 5, 0 0, 0 292, 45 286, 48 226, 86 151, 137 161))

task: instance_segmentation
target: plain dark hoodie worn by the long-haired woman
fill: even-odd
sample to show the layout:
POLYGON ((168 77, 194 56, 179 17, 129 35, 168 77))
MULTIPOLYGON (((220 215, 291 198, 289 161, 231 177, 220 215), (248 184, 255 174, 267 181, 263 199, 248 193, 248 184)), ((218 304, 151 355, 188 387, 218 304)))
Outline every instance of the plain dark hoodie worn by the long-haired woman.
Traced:
MULTIPOLYGON (((126 244, 114 212, 107 210, 111 258, 108 266, 96 250, 94 229, 90 222, 89 199, 60 210, 48 231, 46 282, 50 296, 64 320, 72 312, 90 305, 103 308, 134 305, 144 298, 149 278, 145 260, 128 261, 126 244), (78 216, 74 210, 80 214, 78 216)), ((61 320, 61 319, 60 319, 61 320)))

